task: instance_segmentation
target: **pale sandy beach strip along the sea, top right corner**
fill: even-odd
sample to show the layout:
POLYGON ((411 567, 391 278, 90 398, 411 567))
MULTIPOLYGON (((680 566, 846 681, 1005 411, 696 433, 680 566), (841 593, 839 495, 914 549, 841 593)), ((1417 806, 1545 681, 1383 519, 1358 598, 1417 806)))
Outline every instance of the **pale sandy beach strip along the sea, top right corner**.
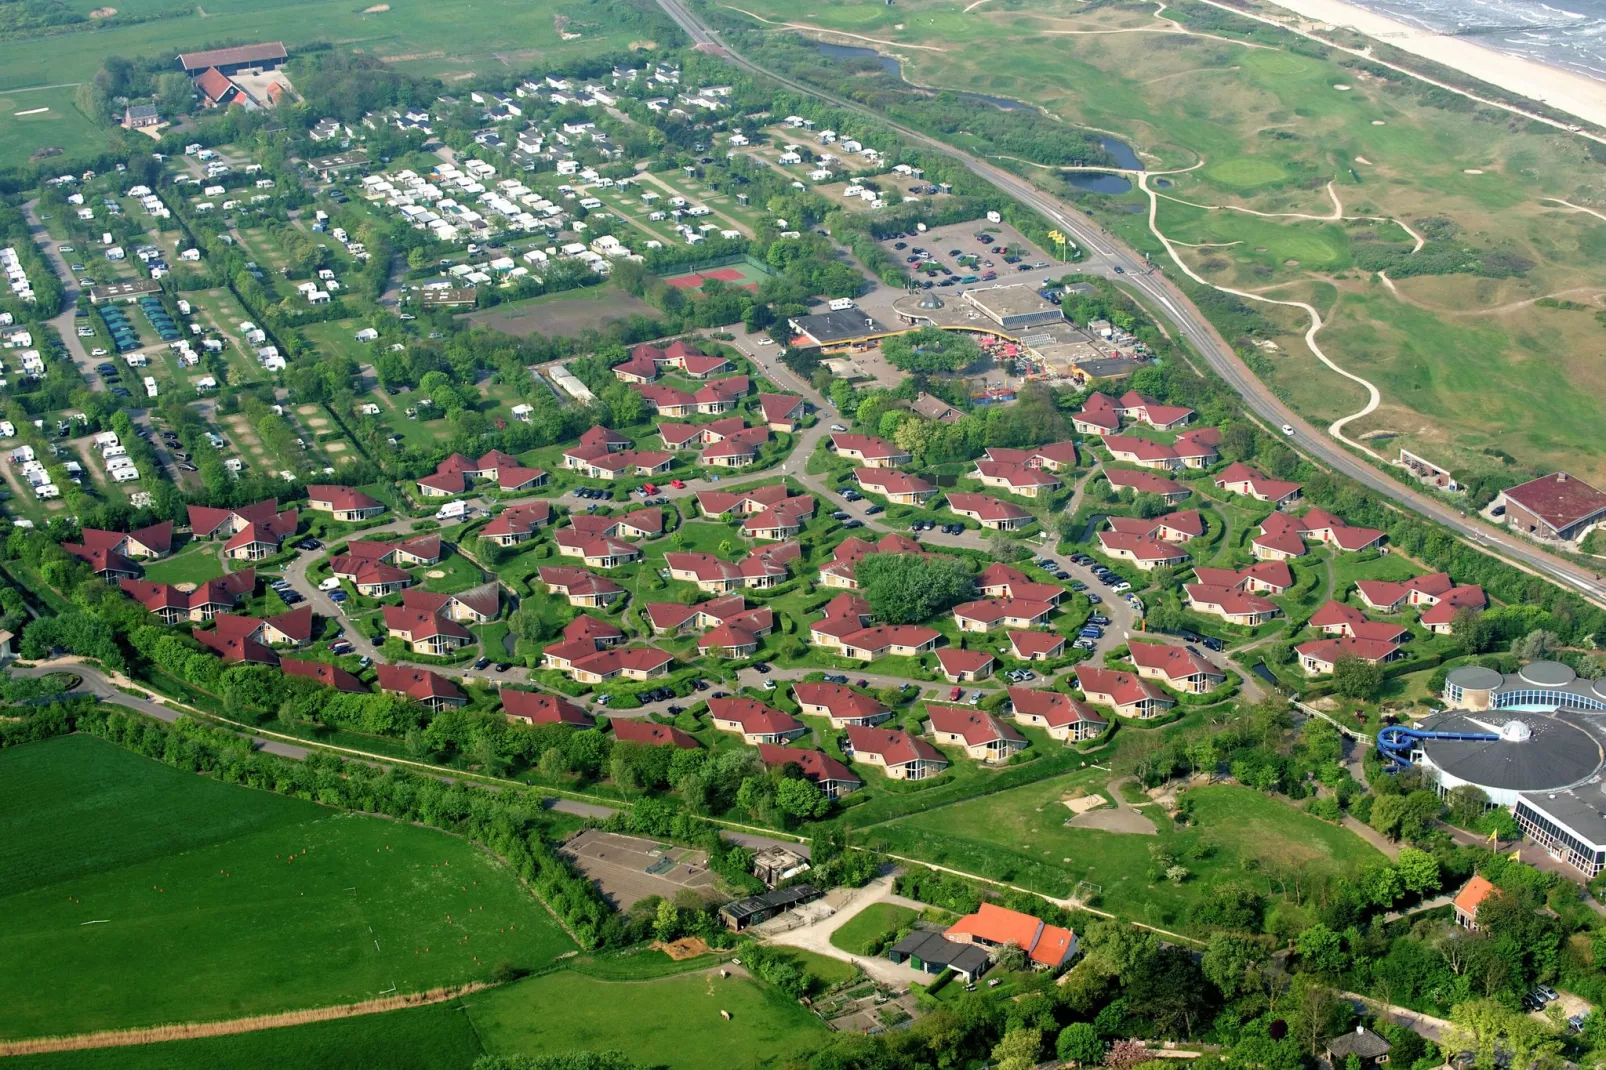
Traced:
POLYGON ((1521 93, 1558 111, 1606 127, 1606 82, 1559 67, 1548 67, 1522 56, 1486 48, 1465 37, 1436 35, 1386 14, 1376 14, 1343 0, 1270 0, 1280 8, 1317 22, 1354 29, 1490 85, 1521 93))

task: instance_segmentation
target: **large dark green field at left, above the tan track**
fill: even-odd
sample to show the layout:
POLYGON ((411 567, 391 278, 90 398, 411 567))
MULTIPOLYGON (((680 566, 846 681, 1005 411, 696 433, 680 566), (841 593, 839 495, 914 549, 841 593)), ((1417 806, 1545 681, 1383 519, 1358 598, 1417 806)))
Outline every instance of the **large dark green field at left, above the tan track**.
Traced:
POLYGON ((0 753, 0 959, 31 964, 0 972, 0 1036, 347 1003, 570 946, 496 860, 429 829, 85 736, 0 753))

